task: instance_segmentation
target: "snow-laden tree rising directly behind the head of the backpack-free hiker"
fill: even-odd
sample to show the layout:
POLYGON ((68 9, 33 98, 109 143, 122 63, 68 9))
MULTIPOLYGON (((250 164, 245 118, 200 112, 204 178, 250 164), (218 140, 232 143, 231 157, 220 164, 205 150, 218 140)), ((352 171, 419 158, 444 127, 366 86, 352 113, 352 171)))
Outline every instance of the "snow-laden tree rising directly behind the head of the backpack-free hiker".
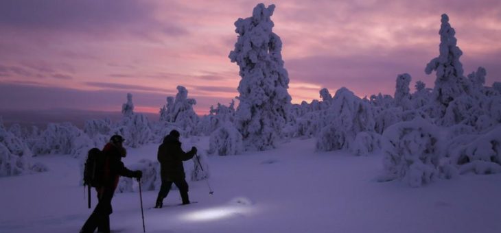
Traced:
POLYGON ((196 100, 188 99, 188 90, 184 86, 177 86, 177 89, 176 99, 167 97, 166 105, 160 110, 160 120, 176 123, 182 129, 180 132, 195 135, 198 133, 198 115, 193 110, 196 100))

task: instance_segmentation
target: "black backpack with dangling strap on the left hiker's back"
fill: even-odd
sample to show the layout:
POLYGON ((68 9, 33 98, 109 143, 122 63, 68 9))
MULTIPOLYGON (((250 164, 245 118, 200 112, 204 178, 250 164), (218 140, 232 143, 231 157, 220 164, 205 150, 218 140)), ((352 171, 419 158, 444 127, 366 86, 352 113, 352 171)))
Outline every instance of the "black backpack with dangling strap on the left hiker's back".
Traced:
POLYGON ((90 149, 87 153, 84 167, 84 186, 89 188, 89 208, 91 208, 91 187, 99 187, 102 184, 104 173, 104 153, 97 148, 90 149))

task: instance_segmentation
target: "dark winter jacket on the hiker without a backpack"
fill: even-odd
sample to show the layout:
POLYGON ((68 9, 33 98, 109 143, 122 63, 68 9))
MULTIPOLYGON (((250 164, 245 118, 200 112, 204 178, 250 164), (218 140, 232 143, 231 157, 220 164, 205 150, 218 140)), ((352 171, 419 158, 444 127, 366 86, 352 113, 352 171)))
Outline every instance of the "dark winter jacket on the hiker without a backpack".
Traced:
POLYGON ((181 149, 181 143, 174 136, 166 136, 159 146, 157 158, 160 162, 162 182, 185 178, 183 161, 193 158, 195 151, 188 152, 181 149))

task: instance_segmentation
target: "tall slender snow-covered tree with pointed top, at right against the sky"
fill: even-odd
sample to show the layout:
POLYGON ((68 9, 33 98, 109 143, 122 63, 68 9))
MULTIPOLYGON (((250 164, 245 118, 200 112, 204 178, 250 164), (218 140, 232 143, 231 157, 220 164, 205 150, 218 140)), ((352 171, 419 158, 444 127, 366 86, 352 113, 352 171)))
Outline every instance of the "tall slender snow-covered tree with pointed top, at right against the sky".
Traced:
POLYGON ((440 54, 433 58, 427 65, 425 72, 427 74, 436 71, 435 86, 432 92, 435 110, 434 117, 439 118, 439 123, 445 115, 446 108, 450 102, 462 95, 468 90, 468 81, 463 75, 463 64, 459 57, 463 51, 456 46, 457 40, 454 36, 456 32, 449 23, 449 16, 442 14, 440 27, 440 54))

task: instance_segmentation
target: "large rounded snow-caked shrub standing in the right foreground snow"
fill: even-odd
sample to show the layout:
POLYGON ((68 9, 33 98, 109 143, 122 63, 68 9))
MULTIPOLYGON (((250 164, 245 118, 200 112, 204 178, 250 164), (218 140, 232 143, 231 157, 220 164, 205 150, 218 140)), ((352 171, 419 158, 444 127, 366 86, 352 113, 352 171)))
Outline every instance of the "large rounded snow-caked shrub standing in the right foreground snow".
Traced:
POLYGON ((404 121, 383 133, 384 169, 412 187, 432 182, 439 175, 439 132, 423 119, 404 121))

